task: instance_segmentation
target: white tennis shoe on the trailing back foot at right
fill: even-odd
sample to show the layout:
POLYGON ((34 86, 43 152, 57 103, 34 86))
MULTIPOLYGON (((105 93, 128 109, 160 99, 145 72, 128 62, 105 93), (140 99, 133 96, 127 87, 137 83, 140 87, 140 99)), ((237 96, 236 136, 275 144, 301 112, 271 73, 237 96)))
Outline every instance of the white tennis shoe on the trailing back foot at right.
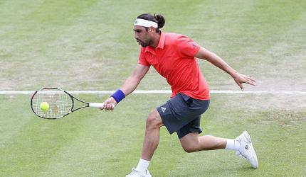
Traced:
POLYGON ((236 152, 236 154, 238 156, 243 157, 244 159, 248 159, 252 167, 254 169, 257 169, 258 168, 257 156, 248 132, 244 131, 239 137, 236 137, 236 140, 240 142, 240 147, 236 152))

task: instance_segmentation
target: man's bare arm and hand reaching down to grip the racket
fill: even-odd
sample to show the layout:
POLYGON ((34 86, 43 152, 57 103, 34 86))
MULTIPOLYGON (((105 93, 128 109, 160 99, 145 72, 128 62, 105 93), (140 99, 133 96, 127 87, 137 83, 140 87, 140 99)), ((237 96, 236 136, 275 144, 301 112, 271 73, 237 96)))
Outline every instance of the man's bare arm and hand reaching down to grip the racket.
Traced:
MULTIPOLYGON (((149 66, 144 66, 142 64, 137 64, 137 66, 134 68, 134 71, 132 74, 125 80, 125 84, 121 86, 121 91, 125 94, 125 96, 132 93, 142 80, 144 76, 149 71, 149 66)), ((107 98, 105 101, 105 110, 113 110, 112 103, 115 103, 117 105, 117 101, 115 101, 115 98, 112 96, 110 98, 107 98)))

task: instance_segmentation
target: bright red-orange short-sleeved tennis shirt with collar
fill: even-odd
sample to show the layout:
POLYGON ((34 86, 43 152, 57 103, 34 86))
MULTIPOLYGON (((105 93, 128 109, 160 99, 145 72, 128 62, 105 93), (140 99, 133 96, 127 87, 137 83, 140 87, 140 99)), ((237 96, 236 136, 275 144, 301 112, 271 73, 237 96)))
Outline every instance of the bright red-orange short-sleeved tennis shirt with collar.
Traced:
POLYGON ((177 93, 199 100, 209 100, 209 86, 194 57, 200 46, 185 35, 161 33, 157 48, 141 47, 139 64, 153 66, 167 79, 172 89, 171 97, 177 93))

